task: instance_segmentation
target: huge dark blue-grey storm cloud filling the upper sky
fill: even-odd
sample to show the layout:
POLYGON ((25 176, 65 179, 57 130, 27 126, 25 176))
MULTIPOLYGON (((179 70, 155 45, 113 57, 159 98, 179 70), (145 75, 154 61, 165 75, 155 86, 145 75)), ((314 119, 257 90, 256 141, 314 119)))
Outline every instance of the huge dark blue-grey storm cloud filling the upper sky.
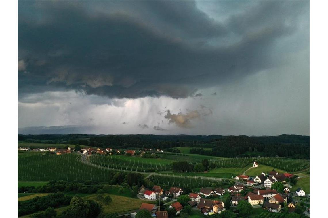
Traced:
POLYGON ((271 50, 295 34, 309 3, 247 4, 217 21, 193 1, 19 1, 19 98, 54 90, 180 98, 275 67, 271 50))

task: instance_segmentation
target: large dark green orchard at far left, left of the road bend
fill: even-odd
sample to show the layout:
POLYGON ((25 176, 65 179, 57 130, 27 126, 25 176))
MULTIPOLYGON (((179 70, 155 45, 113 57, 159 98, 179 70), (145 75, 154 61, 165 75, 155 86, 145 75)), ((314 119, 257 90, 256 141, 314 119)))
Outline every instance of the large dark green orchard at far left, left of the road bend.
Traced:
POLYGON ((92 180, 108 182, 110 170, 93 167, 80 161, 78 154, 35 155, 18 158, 18 181, 92 180))

